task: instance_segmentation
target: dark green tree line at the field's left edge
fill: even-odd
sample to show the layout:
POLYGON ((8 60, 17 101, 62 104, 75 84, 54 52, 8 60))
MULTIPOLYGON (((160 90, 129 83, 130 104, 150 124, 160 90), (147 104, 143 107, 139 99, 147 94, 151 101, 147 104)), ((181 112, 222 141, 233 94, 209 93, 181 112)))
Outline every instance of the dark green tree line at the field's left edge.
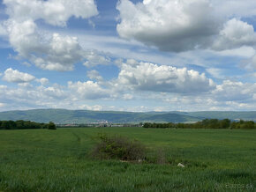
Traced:
POLYGON ((14 121, 0 121, 0 129, 56 129, 54 122, 40 123, 18 120, 14 121))

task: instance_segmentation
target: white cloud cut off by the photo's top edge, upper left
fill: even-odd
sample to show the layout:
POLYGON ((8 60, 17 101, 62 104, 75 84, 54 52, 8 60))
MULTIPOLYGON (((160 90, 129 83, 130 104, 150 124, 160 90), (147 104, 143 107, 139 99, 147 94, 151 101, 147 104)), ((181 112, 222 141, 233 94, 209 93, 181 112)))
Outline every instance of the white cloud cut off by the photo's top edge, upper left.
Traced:
POLYGON ((11 19, 23 22, 42 18, 54 26, 65 26, 72 16, 90 18, 98 14, 94 0, 4 0, 4 4, 11 19))

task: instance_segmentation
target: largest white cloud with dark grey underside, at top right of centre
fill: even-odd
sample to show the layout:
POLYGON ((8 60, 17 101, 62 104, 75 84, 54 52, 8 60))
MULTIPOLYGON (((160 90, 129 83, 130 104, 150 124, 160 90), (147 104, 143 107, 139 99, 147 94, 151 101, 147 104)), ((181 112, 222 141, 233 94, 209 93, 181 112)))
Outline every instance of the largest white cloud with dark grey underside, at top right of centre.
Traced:
POLYGON ((121 19, 117 32, 121 37, 164 51, 206 47, 222 26, 208 0, 144 0, 142 4, 121 0, 117 10, 121 19))

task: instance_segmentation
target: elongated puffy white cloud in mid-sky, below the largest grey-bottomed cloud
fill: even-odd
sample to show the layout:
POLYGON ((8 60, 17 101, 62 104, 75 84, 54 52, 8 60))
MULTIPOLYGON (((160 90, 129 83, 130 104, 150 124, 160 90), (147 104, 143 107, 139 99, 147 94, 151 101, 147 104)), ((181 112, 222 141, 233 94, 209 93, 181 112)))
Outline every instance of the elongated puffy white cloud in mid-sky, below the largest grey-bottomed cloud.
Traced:
POLYGON ((207 92, 215 88, 212 79, 195 70, 153 63, 123 63, 118 84, 130 89, 152 92, 207 92))

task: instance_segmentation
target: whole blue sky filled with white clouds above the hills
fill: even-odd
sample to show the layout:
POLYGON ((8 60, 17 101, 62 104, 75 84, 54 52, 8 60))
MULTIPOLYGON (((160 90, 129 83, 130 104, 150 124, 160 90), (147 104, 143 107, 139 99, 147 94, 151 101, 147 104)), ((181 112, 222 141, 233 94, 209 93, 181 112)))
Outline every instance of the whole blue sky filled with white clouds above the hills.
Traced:
POLYGON ((256 110, 255 0, 0 0, 0 111, 256 110))

